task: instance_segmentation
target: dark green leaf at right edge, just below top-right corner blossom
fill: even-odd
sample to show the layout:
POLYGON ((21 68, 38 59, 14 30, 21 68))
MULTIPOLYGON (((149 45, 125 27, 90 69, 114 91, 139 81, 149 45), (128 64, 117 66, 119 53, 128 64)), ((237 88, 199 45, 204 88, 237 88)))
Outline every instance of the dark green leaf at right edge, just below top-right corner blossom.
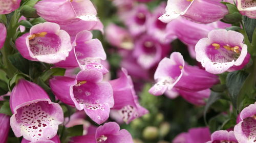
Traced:
POLYGON ((251 19, 249 17, 243 16, 243 21, 244 21, 245 31, 248 35, 248 39, 251 42, 253 31, 256 27, 256 19, 251 19))

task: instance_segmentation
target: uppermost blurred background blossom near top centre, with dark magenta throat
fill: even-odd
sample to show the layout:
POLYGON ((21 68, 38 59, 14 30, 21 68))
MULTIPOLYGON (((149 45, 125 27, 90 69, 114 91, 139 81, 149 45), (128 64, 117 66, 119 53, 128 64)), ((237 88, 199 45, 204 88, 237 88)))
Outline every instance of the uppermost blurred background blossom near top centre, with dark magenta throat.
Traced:
POLYGON ((133 8, 130 12, 122 14, 125 25, 133 36, 138 36, 146 31, 146 21, 150 16, 146 5, 140 4, 133 8))

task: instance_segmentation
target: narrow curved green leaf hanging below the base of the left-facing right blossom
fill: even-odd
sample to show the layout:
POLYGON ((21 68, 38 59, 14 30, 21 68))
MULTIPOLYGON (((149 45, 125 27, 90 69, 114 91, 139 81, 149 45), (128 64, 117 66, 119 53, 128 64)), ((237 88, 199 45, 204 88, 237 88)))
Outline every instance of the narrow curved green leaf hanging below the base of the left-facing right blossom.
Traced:
POLYGON ((207 124, 207 121, 206 121, 206 112, 208 111, 208 109, 210 108, 210 106, 212 104, 214 104, 217 100, 219 100, 221 98, 221 94, 220 93, 217 93, 217 92, 211 92, 210 93, 210 97, 208 98, 207 100, 207 103, 204 107, 204 122, 205 124, 207 124))

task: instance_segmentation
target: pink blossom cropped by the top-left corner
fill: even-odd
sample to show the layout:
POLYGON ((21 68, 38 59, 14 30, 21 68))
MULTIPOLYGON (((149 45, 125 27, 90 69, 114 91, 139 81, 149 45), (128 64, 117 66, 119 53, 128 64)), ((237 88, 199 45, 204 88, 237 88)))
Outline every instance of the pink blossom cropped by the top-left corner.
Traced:
POLYGON ((0 0, 0 14, 8 14, 16 10, 22 0, 0 0))

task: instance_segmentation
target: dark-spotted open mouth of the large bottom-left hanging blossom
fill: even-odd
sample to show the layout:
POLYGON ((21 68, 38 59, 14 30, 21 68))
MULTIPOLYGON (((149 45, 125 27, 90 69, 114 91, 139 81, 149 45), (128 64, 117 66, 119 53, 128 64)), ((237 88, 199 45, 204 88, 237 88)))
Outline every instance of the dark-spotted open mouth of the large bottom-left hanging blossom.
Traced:
POLYGON ((50 139, 55 136, 60 122, 54 117, 55 107, 48 101, 39 101, 17 109, 15 115, 25 138, 50 139))

